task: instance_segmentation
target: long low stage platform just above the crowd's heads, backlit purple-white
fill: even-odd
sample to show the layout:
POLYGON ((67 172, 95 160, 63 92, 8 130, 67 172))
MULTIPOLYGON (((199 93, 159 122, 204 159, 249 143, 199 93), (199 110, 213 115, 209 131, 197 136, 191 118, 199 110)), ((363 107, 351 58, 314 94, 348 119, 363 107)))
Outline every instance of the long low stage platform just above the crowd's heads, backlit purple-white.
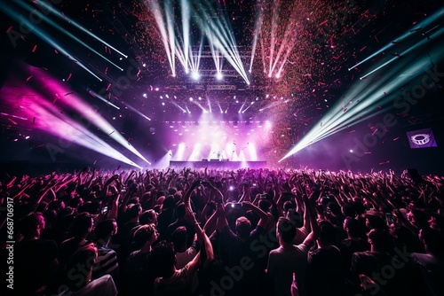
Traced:
POLYGON ((266 167, 266 161, 170 161, 170 167, 190 167, 190 168, 229 168, 236 169, 242 167, 260 168, 266 167))

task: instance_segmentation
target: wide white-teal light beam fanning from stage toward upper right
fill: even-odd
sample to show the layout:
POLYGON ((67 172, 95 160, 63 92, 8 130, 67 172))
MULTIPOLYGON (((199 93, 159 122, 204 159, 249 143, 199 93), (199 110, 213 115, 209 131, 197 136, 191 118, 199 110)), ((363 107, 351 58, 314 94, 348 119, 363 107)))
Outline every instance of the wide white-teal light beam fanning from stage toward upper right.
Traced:
MULTIPOLYGON (((305 136, 298 141, 297 145, 284 155, 281 160, 285 160, 290 155, 301 151, 305 147, 319 142, 328 136, 334 135, 341 130, 347 129, 353 124, 366 121, 369 118, 384 113, 389 108, 392 108, 393 101, 396 102, 396 96, 399 96, 399 90, 400 88, 403 88, 403 85, 419 81, 421 77, 424 76, 424 71, 429 71, 428 69, 430 69, 431 59, 434 61, 442 60, 442 51, 439 46, 433 46, 434 44, 429 43, 427 39, 423 38, 423 36, 419 36, 421 34, 418 32, 418 29, 422 30, 426 26, 432 26, 432 22, 437 21, 438 19, 442 21, 443 12, 444 10, 440 9, 440 11, 436 12, 431 17, 416 23, 414 29, 410 29, 404 35, 401 35, 396 41, 385 45, 385 47, 372 54, 369 58, 365 58, 361 63, 349 68, 349 70, 352 70, 356 66, 369 61, 381 54, 381 52, 391 48, 393 43, 400 43, 400 41, 403 41, 403 43, 408 46, 402 49, 400 45, 397 45, 400 49, 399 55, 402 58, 387 58, 386 60, 382 59, 377 63, 373 63, 372 66, 374 69, 369 72, 369 74, 387 66, 388 63, 391 63, 391 66, 385 67, 385 74, 377 80, 361 80, 360 82, 355 82, 355 84, 345 93, 345 97, 353 98, 353 104, 347 104, 345 107, 345 105, 338 103, 330 108, 329 112, 325 113, 321 120, 313 125, 313 129, 305 134, 305 136), (420 46, 424 48, 419 48, 420 46), (412 54, 413 50, 416 52, 412 54), (417 51, 427 51, 427 56, 418 55, 416 54, 417 51), (379 108, 375 112, 372 106, 376 105, 384 106, 384 108, 379 108)), ((444 29, 441 29, 439 32, 435 33, 436 36, 434 36, 434 38, 440 37, 443 34, 444 29)), ((363 79, 369 74, 366 74, 361 78, 363 79)))

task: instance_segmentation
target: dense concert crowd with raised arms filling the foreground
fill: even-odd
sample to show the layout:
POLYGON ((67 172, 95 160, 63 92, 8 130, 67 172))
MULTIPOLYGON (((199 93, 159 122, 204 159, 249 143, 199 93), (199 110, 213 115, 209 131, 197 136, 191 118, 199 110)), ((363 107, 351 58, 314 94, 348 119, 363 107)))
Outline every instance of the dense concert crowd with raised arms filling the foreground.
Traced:
POLYGON ((6 175, 4 291, 444 295, 443 185, 307 168, 6 175))

